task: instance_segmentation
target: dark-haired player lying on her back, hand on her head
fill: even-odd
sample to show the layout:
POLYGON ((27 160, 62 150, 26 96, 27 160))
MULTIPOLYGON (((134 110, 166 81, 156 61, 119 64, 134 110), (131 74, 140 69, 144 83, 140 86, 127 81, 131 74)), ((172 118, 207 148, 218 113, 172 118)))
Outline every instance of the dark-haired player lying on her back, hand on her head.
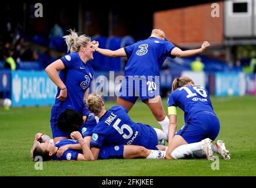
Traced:
MULTIPOLYGON (((42 133, 36 133, 34 145, 31 148, 31 158, 41 156, 43 161, 48 160, 94 160, 87 142, 82 138, 81 133, 72 132, 74 139, 63 139, 54 144, 51 138, 42 133), (67 149, 59 152, 59 148, 67 149), (63 152, 64 151, 64 152, 63 152)), ((102 146, 98 159, 162 159, 165 151, 149 150, 143 146, 135 145, 114 145, 102 146)))

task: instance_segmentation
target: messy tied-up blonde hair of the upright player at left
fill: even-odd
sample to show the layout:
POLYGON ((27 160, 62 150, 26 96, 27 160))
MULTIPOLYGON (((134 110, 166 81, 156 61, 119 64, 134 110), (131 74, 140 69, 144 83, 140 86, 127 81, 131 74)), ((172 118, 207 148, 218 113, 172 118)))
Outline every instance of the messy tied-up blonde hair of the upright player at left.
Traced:
POLYGON ((89 36, 78 36, 78 33, 75 32, 75 29, 69 29, 68 31, 70 32, 70 34, 63 36, 68 46, 68 52, 78 52, 81 46, 87 46, 87 44, 91 42, 91 38, 89 38, 89 36))

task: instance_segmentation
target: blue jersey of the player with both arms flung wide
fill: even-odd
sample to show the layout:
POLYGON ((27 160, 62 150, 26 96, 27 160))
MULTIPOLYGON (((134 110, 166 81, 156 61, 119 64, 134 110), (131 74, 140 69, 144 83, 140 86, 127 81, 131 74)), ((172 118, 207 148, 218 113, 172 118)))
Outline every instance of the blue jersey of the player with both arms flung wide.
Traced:
POLYGON ((159 69, 165 59, 171 56, 175 46, 167 39, 149 37, 124 48, 128 62, 124 76, 159 76, 159 69))

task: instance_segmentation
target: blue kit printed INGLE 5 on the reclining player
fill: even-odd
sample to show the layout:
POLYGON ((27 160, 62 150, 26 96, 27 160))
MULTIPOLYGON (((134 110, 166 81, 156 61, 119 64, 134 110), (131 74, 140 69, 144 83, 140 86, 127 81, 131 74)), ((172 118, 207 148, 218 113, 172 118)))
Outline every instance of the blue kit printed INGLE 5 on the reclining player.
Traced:
MULTIPOLYGON (((113 106, 92 130, 91 147, 102 145, 149 145, 152 127, 133 122, 122 106, 113 106)), ((154 129, 153 129, 154 130, 154 129)))

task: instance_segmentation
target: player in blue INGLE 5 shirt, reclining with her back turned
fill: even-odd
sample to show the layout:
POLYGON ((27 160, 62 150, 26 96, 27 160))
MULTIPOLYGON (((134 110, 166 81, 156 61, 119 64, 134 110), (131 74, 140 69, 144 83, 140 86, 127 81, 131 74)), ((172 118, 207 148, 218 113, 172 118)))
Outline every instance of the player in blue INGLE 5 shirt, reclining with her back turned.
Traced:
POLYGON ((85 100, 88 110, 98 116, 99 122, 92 130, 91 151, 97 159, 102 145, 139 145, 147 149, 159 149, 158 140, 166 134, 149 125, 133 122, 122 106, 113 106, 108 111, 101 96, 88 95, 85 100))

